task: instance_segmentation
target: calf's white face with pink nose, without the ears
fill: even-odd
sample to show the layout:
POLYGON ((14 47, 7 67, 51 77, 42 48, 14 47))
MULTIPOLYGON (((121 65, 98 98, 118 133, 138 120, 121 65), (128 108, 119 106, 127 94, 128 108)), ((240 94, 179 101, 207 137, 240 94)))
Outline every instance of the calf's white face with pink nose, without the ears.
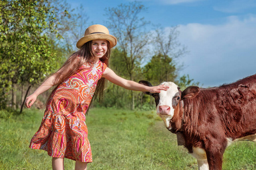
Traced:
POLYGON ((174 116, 174 105, 177 102, 176 100, 180 100, 180 94, 178 86, 175 83, 163 82, 161 84, 169 86, 169 88, 167 91, 161 91, 159 93, 159 103, 156 105, 156 114, 162 118, 166 128, 170 129, 170 120, 172 116, 174 116))

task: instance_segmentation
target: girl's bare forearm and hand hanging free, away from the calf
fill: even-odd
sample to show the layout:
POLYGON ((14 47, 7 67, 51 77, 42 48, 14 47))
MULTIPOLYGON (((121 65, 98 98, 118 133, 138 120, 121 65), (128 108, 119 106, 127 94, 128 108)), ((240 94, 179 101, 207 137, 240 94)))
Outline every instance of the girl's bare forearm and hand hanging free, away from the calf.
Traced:
POLYGON ((56 75, 53 74, 39 86, 32 95, 26 98, 25 105, 27 108, 31 108, 31 105, 36 101, 36 97, 51 88, 55 82, 56 75))

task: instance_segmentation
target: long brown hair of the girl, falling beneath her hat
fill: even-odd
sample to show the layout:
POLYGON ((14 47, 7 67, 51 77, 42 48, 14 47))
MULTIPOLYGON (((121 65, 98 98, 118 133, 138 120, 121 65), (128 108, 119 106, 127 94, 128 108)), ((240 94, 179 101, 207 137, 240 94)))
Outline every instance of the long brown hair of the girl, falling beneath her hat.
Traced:
MULTIPOLYGON (((111 48, 109 41, 107 41, 107 44, 108 50, 106 54, 100 58, 100 61, 104 62, 107 66, 109 66, 111 48)), ((60 69, 53 74, 56 76, 56 78, 55 82, 53 82, 53 90, 51 92, 51 95, 48 97, 47 102, 49 101, 49 99, 51 99, 53 92, 57 89, 58 86, 60 86, 61 83, 65 82, 65 80, 67 80, 70 76, 74 75, 84 63, 92 61, 94 61, 94 56, 92 53, 92 41, 88 41, 84 45, 82 45, 82 47, 77 52, 69 56, 63 66, 61 66, 60 69)), ((105 84, 105 78, 101 78, 100 80, 98 80, 93 99, 96 99, 98 97, 99 101, 102 100, 105 84)))

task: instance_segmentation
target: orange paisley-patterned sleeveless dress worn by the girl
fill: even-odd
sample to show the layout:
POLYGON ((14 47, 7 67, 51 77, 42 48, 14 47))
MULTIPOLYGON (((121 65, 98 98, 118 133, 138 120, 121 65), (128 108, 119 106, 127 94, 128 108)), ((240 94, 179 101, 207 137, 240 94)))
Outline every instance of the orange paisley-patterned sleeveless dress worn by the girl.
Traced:
POLYGON ((30 148, 53 158, 92 162, 85 113, 106 69, 105 63, 86 63, 52 93, 30 148))

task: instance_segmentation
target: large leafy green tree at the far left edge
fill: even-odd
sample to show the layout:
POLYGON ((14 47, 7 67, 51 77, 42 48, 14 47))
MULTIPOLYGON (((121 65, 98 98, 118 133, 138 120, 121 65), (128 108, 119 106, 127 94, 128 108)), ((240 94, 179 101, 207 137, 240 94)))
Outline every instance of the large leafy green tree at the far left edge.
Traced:
MULTIPOLYGON (((48 35, 61 36, 47 1, 3 0, 0 6, 0 91, 6 99, 16 84, 36 84, 55 69, 57 56, 48 35)), ((0 109, 5 105, 1 99, 0 109)))

